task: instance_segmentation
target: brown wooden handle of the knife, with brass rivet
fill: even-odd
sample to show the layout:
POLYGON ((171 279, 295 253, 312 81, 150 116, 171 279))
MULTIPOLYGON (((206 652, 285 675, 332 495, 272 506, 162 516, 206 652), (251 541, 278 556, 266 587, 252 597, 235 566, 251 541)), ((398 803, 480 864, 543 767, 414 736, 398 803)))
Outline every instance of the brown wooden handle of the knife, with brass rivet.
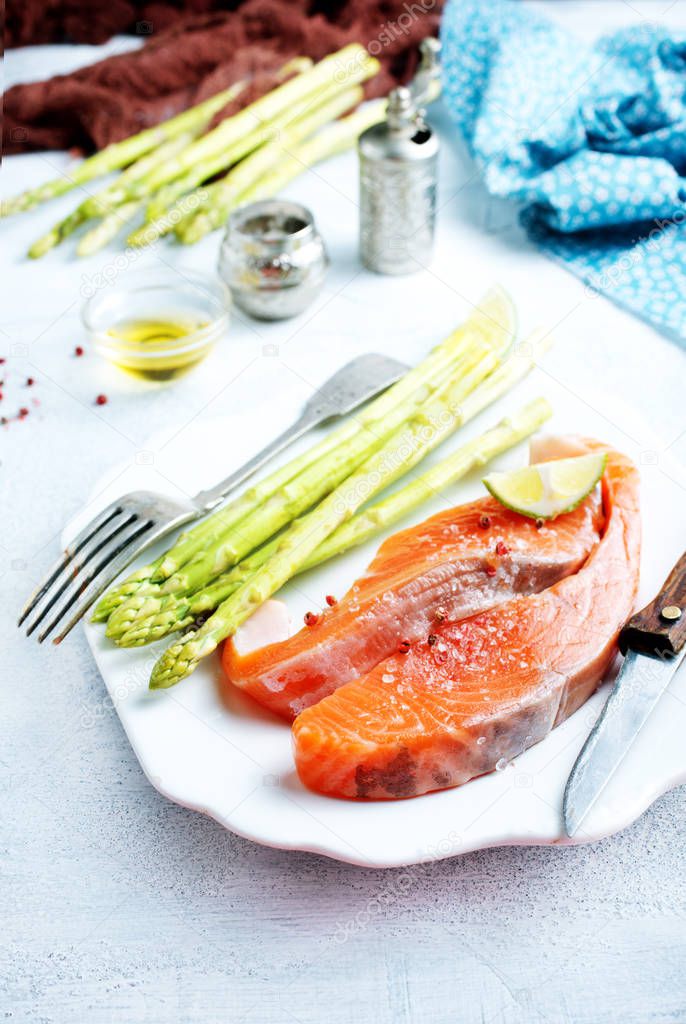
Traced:
POLYGON ((619 634, 619 649, 677 654, 686 643, 686 552, 654 601, 637 611, 619 634))

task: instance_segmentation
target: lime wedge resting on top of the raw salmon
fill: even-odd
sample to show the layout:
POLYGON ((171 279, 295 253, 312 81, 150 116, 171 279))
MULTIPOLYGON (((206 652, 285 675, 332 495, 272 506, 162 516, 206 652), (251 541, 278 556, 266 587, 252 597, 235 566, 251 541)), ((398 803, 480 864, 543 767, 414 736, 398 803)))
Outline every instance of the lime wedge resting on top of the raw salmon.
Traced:
POLYGON ((532 519, 571 512, 590 495, 605 470, 604 454, 540 462, 510 473, 489 473, 483 482, 501 505, 532 519))

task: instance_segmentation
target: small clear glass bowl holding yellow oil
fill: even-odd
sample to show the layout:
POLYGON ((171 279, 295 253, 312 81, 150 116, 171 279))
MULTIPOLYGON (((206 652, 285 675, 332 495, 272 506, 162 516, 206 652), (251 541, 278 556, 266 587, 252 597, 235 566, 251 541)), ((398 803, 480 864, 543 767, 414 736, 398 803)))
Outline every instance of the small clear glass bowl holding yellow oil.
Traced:
POLYGON ((142 380, 168 382, 204 359, 228 327, 231 298, 218 278, 189 270, 129 271, 81 311, 90 342, 142 380))

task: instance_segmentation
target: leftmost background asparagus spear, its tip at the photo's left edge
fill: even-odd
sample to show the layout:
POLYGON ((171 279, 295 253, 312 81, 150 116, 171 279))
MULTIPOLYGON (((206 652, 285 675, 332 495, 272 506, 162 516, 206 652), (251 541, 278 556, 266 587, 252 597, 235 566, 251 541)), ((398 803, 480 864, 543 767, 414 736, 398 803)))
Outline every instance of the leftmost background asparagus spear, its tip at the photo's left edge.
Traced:
POLYGON ((146 128, 144 131, 138 132, 137 135, 131 135, 121 142, 113 142, 112 145, 108 145, 99 153, 88 157, 76 167, 70 168, 60 177, 53 178, 36 188, 29 188, 19 196, 6 200, 2 204, 2 216, 29 210, 45 200, 63 195, 76 185, 85 184, 85 182, 92 181, 93 178, 100 177, 102 174, 117 171, 138 160, 139 157, 149 153, 151 150, 167 139, 194 130, 199 122, 203 125, 207 124, 208 120, 222 106, 226 106, 232 99, 235 99, 247 84, 247 82, 235 82, 215 96, 183 111, 182 114, 177 114, 176 117, 170 118, 168 121, 163 121, 162 124, 156 125, 154 128, 146 128))

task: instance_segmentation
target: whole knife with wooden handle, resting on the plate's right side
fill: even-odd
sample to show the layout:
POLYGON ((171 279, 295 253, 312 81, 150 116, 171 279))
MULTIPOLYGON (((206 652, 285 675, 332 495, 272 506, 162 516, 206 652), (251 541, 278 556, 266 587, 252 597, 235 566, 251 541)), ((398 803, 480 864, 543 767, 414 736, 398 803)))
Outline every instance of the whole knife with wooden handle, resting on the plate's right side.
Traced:
POLYGON ((650 604, 619 634, 621 670, 567 779, 564 827, 573 837, 624 761, 686 654, 686 553, 650 604))

